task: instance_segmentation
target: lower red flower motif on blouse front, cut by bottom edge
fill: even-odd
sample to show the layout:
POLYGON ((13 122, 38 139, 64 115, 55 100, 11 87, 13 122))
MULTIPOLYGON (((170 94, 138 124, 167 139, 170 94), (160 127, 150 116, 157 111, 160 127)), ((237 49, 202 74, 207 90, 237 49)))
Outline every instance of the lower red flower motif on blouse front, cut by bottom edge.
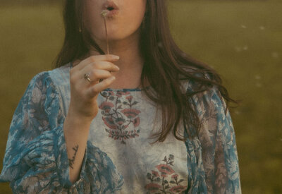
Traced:
POLYGON ((173 154, 169 154, 168 158, 165 156, 162 161, 166 164, 156 166, 161 176, 159 176, 158 171, 152 170, 152 174, 147 174, 147 179, 149 179, 150 183, 148 183, 145 188, 149 193, 183 193, 187 186, 181 186, 180 183, 183 182, 184 179, 178 181, 179 175, 173 174, 175 173, 172 168, 174 162, 173 154), (169 175, 171 175, 171 181, 168 182, 169 175))

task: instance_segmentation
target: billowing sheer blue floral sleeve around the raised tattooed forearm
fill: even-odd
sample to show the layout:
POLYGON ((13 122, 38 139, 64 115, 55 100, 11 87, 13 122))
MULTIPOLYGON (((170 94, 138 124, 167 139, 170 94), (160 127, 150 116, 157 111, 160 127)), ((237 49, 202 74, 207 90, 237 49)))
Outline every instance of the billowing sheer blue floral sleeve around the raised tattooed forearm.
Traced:
POLYGON ((35 75, 13 114, 0 181, 13 193, 113 193, 122 176, 106 153, 87 142, 80 177, 69 178, 61 97, 48 72, 35 75))

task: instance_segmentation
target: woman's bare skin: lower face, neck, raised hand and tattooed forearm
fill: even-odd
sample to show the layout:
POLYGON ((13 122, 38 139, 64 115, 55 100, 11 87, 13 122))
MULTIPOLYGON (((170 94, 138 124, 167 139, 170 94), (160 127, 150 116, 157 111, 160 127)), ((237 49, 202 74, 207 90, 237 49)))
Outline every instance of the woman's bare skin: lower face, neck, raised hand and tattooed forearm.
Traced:
MULTIPOLYGON (((92 38, 106 51, 106 37, 101 16, 104 0, 85 1, 85 22, 92 38)), ((116 17, 109 19, 108 34, 110 54, 100 55, 90 49, 83 60, 75 60, 70 71, 71 102, 63 124, 69 161, 70 181, 80 176, 85 156, 90 124, 97 116, 99 92, 111 88, 136 88, 144 60, 139 50, 140 25, 144 18, 146 0, 119 0, 116 17), (114 59, 119 56, 120 59, 114 59), (110 72, 111 71, 111 72, 110 72), (90 74, 90 83, 83 78, 90 74), (99 79, 103 79, 99 83, 99 79)))

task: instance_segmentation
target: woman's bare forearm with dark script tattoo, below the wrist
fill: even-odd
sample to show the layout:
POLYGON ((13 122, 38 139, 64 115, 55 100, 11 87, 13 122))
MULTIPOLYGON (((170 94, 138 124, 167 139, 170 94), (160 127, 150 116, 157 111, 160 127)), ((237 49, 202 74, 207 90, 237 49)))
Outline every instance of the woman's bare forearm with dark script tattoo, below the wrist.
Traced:
POLYGON ((90 124, 90 120, 80 119, 78 116, 75 116, 70 112, 68 112, 63 123, 71 183, 78 181, 78 177, 80 176, 90 124))

